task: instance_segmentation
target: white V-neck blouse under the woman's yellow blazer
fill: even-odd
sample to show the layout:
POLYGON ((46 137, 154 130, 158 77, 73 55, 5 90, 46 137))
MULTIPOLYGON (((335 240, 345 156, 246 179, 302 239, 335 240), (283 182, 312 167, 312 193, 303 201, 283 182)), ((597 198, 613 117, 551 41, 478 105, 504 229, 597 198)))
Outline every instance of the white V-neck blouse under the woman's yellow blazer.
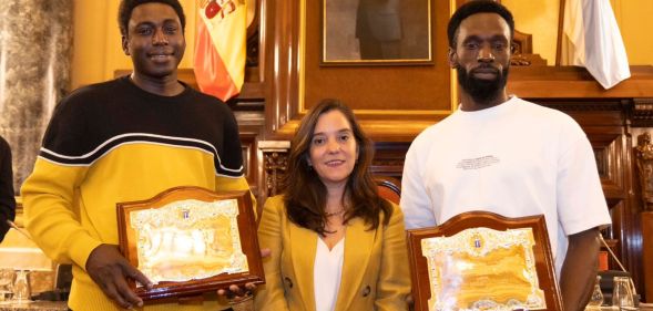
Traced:
POLYGON ((345 259, 345 238, 329 251, 329 247, 318 237, 315 265, 313 266, 313 288, 315 289, 315 310, 335 311, 343 276, 345 259))

